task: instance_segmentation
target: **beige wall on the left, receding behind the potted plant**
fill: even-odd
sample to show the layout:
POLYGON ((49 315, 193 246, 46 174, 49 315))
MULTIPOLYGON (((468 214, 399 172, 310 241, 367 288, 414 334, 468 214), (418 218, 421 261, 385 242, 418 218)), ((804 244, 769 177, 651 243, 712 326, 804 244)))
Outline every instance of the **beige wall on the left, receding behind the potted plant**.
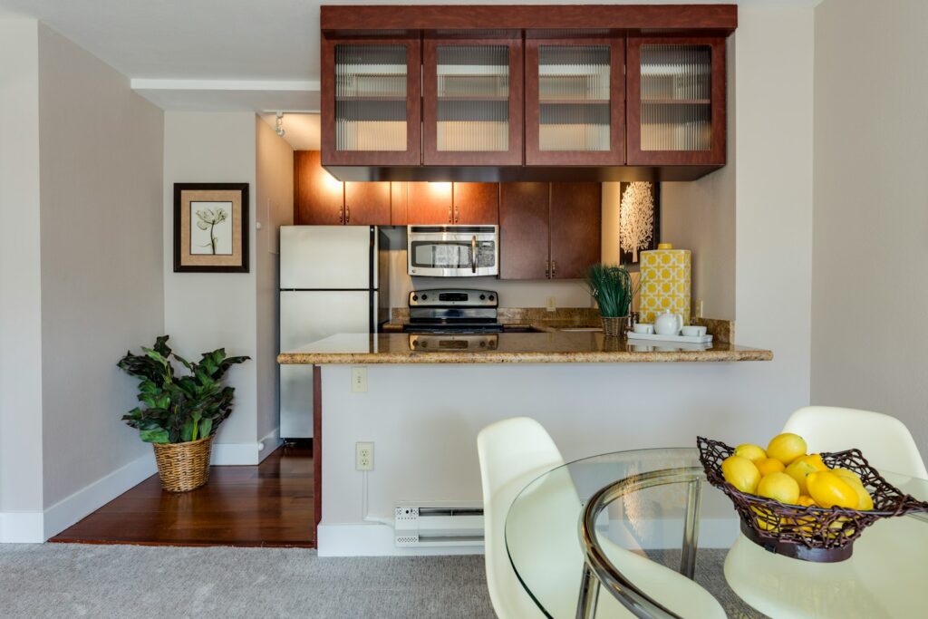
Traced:
POLYGON ((163 328, 161 110, 39 26, 45 507, 150 447, 126 349, 163 328), (79 448, 76 445, 80 445, 79 448))

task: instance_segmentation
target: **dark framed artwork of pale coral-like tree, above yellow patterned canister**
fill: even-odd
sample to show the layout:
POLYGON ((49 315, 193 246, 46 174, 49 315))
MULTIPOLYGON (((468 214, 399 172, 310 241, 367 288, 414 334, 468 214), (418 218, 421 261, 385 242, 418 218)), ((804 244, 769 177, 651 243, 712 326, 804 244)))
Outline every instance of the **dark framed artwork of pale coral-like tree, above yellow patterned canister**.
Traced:
POLYGON ((661 184, 619 186, 619 261, 638 264, 638 253, 656 250, 661 239, 661 184))

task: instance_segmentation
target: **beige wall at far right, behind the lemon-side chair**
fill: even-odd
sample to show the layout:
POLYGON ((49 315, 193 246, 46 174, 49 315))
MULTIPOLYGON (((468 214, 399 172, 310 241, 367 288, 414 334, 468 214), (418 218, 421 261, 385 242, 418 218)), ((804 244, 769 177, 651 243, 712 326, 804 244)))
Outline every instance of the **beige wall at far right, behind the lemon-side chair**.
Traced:
POLYGON ((816 9, 812 401, 893 415, 928 454, 928 3, 816 9))

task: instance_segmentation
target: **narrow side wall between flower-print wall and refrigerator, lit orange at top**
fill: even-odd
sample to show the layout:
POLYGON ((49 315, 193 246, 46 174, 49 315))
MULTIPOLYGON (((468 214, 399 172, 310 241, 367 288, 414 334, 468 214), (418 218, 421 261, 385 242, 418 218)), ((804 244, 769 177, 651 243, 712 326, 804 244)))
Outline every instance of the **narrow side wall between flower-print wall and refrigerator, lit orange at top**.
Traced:
MULTIPOLYGON (((257 366, 259 439, 278 430, 278 308, 277 233, 280 226, 293 223, 293 148, 277 136, 267 123, 255 117, 257 190, 255 209, 261 229, 254 233, 257 277, 257 366)), ((274 445, 265 445, 262 456, 274 445)))

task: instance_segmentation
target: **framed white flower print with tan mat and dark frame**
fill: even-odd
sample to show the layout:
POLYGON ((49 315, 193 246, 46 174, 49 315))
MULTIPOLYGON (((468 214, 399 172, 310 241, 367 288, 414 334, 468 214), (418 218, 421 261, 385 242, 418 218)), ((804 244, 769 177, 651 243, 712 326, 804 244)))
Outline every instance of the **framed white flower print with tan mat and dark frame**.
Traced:
POLYGON ((248 183, 174 183, 174 273, 248 273, 248 183))

